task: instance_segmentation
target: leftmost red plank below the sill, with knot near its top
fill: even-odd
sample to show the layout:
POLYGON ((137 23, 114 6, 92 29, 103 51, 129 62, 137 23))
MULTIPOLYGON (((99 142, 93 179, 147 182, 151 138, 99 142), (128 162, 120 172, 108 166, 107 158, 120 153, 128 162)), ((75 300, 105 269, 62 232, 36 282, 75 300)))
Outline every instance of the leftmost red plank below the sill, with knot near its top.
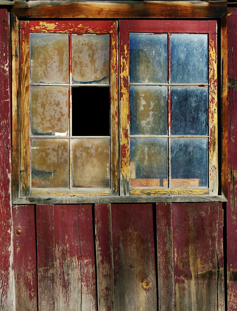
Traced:
POLYGON ((34 205, 13 208, 16 311, 37 310, 34 205))

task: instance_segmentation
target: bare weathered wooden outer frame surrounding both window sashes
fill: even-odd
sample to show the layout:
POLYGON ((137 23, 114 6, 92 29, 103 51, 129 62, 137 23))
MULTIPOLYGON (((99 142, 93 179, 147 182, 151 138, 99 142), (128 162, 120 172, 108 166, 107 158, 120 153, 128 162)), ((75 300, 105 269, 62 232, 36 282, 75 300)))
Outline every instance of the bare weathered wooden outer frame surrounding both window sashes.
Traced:
MULTIPOLYGON (((181 2, 167 2, 167 1, 150 1, 150 2, 89 2, 89 1, 20 1, 16 0, 11 10, 11 43, 12 43, 12 202, 14 204, 43 204, 43 203, 99 203, 99 202, 213 202, 223 201, 226 202, 227 190, 228 190, 228 170, 227 170, 227 1, 181 1, 181 2), (145 12, 145 14, 144 14, 145 12), (29 195, 29 183, 22 183, 20 174, 24 174, 25 168, 30 169, 29 157, 24 157, 25 149, 20 147, 20 131, 21 126, 23 132, 25 131, 24 124, 21 122, 21 116, 29 114, 29 108, 21 107, 21 102, 25 101, 27 96, 27 90, 29 89, 28 81, 19 80, 19 73, 25 75, 25 61, 26 59, 20 58, 20 24, 29 25, 28 21, 33 20, 52 20, 57 21, 59 19, 198 19, 198 20, 216 20, 218 24, 218 36, 220 39, 220 45, 217 54, 217 63, 220 72, 218 75, 218 154, 219 154, 219 186, 216 187, 214 195, 208 194, 169 194, 164 193, 162 195, 151 195, 152 193, 131 193, 127 184, 127 176, 121 172, 121 189, 120 195, 118 192, 118 146, 119 139, 116 134, 115 150, 111 152, 111 158, 114 156, 114 175, 115 178, 112 182, 111 195, 93 195, 93 193, 84 193, 80 196, 70 194, 64 195, 45 193, 44 196, 30 196, 29 195), (21 107, 21 109, 19 109, 21 107), (21 152, 20 152, 21 150, 21 152), (22 156, 22 158, 21 158, 22 156), (21 159, 21 160, 20 160, 21 159), (124 179, 124 176, 126 177, 124 179), (221 178, 220 178, 221 177, 221 178), (125 180, 125 182, 124 182, 125 180), (21 188, 21 191, 20 191, 21 188), (135 194, 135 195, 132 195, 135 194), (144 195, 146 194, 146 195, 144 195)), ((20 29, 21 30, 21 29, 20 29)), ((22 30, 21 30, 22 31, 22 30)), ((21 40, 24 38, 21 36, 21 40)), ((116 40, 116 39, 115 39, 116 40)), ((117 44, 117 42, 116 42, 117 44)), ((28 49, 27 44, 22 45, 23 49, 28 49)), ((125 46, 121 45, 121 49, 125 46)), ((29 52, 23 51, 23 54, 29 52)), ((122 50, 120 51, 120 53, 122 50)), ((128 53, 127 53, 128 55, 128 53)), ((112 56, 115 57, 115 56, 112 56)), ((116 57, 115 57, 116 58, 116 57)), ((114 58, 114 59, 115 59, 114 58)), ((117 66, 117 59, 116 59, 117 66)), ((216 61, 214 61, 216 64, 216 61)), ((124 65, 126 65, 124 63, 124 65)), ((123 67, 125 68, 125 67, 123 67)), ((126 69, 128 70, 128 68, 126 69)), ((122 74, 122 72, 121 72, 122 74)), ((116 80, 115 74, 115 85, 116 80)), ((112 85, 112 83, 111 83, 112 85)), ((28 91, 29 92, 29 91, 28 91)), ((126 95, 128 96, 128 94, 126 95)), ((28 96, 29 97, 29 96, 28 96)), ((123 109, 124 94, 121 94, 121 108, 123 109)), ((117 102, 114 103, 117 105, 117 102)), ((117 106, 116 106, 117 107, 117 106)), ((115 107, 115 115, 117 114, 115 107)), ((213 108, 217 109, 217 106, 213 108)), ((28 118, 29 119, 29 118, 28 118)), ((121 121, 121 127, 123 128, 121 121)), ((114 123, 115 127, 118 123, 114 123)), ((215 124, 216 130, 216 124, 215 124)), ((116 128, 113 129, 117 132, 116 128)), ((216 130, 217 131, 217 130, 216 130)), ((122 134, 122 131, 120 132, 122 134)), ((112 136, 112 133, 111 133, 112 136)), ((29 138, 29 133, 26 133, 26 137, 29 138)), ((217 136, 216 136, 217 137, 217 136)), ((28 139, 27 138, 27 139, 28 139)), ((120 137, 122 140, 122 137, 120 137)), ((121 144, 123 142, 121 141, 121 144)), ((26 151, 27 152, 27 151, 26 151)), ((128 158, 127 158, 128 159, 128 158)), ((216 162, 217 163, 217 162, 216 162)), ((217 167, 217 166, 216 166, 217 167)), ((28 178, 28 177, 27 177, 28 178)))

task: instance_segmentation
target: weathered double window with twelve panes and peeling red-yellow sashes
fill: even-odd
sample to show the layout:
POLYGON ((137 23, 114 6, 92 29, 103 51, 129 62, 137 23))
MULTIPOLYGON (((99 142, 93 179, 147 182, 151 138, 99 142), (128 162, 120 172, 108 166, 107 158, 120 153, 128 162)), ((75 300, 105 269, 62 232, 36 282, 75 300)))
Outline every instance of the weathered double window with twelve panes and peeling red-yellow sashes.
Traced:
POLYGON ((12 23, 16 203, 224 200, 224 10, 210 20, 57 21, 30 10, 33 20, 12 23))

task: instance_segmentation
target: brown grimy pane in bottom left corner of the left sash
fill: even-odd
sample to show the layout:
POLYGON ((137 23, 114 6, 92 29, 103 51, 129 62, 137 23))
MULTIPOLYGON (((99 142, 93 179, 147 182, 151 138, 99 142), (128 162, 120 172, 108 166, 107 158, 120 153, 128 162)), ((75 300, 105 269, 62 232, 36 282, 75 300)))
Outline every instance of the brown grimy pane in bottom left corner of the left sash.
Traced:
POLYGON ((32 139, 31 187, 69 188, 69 139, 32 139))

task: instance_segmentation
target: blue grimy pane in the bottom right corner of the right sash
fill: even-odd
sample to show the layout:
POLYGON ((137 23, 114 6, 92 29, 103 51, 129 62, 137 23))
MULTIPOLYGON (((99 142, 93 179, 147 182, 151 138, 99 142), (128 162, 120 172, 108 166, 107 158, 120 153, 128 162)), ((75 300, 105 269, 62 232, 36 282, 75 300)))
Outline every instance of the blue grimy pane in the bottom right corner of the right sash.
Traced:
POLYGON ((208 186, 208 138, 171 138, 171 187, 208 186))

